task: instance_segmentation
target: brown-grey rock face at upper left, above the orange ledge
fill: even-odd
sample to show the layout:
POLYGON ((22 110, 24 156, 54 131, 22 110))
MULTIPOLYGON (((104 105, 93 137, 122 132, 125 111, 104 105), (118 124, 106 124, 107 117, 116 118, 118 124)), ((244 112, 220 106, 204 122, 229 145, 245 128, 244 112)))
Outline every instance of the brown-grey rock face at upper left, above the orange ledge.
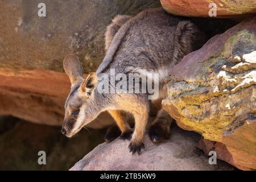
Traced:
POLYGON ((46 17, 39 17, 40 2, 0 2, 0 68, 63 71, 65 55, 75 53, 88 73, 104 57, 106 26, 115 15, 160 6, 156 0, 46 0, 46 17))

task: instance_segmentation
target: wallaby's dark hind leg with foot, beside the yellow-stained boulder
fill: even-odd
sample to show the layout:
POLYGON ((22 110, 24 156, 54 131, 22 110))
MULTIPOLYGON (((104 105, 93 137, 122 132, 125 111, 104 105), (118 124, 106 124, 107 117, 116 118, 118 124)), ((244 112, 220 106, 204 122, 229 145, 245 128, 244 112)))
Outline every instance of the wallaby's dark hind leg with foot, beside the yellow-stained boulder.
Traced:
POLYGON ((148 135, 152 142, 160 143, 170 137, 170 126, 173 119, 166 111, 160 109, 154 121, 152 121, 148 135))

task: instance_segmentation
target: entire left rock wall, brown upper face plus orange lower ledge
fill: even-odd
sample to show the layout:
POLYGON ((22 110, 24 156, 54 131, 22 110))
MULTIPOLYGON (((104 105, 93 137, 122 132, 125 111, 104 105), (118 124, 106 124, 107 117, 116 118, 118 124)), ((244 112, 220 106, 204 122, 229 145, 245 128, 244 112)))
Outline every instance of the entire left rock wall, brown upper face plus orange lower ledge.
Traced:
MULTIPOLYGON (((46 0, 46 18, 38 16, 40 2, 0 1, 0 115, 61 125, 69 92, 68 77, 61 73, 64 56, 74 53, 85 73, 94 71, 104 57, 104 33, 112 18, 160 2, 46 0)), ((110 122, 103 114, 93 127, 110 122)))

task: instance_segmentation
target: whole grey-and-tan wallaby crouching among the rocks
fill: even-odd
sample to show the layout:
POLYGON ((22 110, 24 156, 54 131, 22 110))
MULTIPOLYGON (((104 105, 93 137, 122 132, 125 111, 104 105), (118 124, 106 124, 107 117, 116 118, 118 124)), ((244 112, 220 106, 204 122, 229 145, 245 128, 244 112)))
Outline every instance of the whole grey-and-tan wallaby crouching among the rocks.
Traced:
MULTIPOLYGON (((65 102, 61 132, 72 137, 102 111, 108 111, 121 130, 120 138, 131 140, 130 152, 140 154, 150 110, 157 108, 159 111, 149 129, 150 138, 152 142, 168 138, 171 118, 158 106, 164 97, 163 80, 175 64, 188 53, 203 46, 204 42, 204 34, 195 24, 180 16, 170 15, 162 8, 142 11, 134 17, 116 16, 106 29, 106 55, 96 72, 84 78, 82 66, 76 56, 67 55, 64 59, 64 69, 72 85, 65 102), (158 98, 148 100, 149 93, 99 92, 98 89, 104 82, 100 75, 105 73, 111 78, 112 69, 115 70, 115 75, 138 73, 148 77, 150 73, 157 73, 160 93, 158 98), (127 114, 134 118, 134 129, 127 123, 127 114)), ((108 89, 112 87, 109 84, 108 89)), ((105 139, 110 142, 119 134, 112 127, 105 139)))

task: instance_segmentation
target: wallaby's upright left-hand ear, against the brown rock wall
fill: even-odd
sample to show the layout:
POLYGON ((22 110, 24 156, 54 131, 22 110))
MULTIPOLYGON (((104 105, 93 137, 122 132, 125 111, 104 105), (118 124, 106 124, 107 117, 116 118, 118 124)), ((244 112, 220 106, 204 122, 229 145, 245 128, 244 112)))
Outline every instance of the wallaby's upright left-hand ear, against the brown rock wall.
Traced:
POLYGON ((67 73, 71 84, 82 81, 83 71, 79 59, 75 55, 67 55, 63 61, 65 73, 67 73))

